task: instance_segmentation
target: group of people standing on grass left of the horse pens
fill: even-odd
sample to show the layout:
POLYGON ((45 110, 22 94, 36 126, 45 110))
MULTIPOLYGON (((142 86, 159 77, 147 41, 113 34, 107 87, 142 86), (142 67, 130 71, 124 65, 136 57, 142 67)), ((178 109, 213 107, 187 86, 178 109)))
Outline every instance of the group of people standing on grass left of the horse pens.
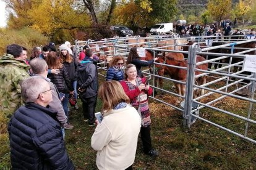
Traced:
MULTIPOLYGON (((74 169, 64 145, 64 129, 69 120, 70 99, 82 100, 84 121, 96 126, 92 148, 98 169, 132 169, 140 133, 143 152, 158 156, 151 144, 148 96, 153 89, 141 67, 153 64, 140 60, 137 47, 111 60, 105 83, 99 86, 97 57, 85 46, 76 59, 66 42, 56 47, 50 42, 27 49, 7 46, 0 58, 1 114, 9 118, 11 164, 14 169, 74 169), (126 67, 124 67, 126 65, 126 67), (102 100, 99 122, 95 118, 98 97, 102 100)), ((79 109, 74 104, 74 109, 79 109)))

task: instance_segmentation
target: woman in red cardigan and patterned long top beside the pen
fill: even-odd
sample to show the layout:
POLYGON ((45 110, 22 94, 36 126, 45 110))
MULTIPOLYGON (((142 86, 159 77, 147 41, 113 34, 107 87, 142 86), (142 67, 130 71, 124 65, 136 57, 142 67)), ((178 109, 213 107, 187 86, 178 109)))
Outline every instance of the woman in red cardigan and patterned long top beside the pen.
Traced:
POLYGON ((140 137, 143 144, 143 152, 150 156, 158 156, 158 152, 151 146, 150 136, 150 111, 148 106, 148 95, 153 93, 153 89, 146 83, 146 78, 137 77, 135 65, 126 66, 125 79, 121 85, 130 99, 130 104, 137 108, 142 117, 142 127, 140 127, 140 137))

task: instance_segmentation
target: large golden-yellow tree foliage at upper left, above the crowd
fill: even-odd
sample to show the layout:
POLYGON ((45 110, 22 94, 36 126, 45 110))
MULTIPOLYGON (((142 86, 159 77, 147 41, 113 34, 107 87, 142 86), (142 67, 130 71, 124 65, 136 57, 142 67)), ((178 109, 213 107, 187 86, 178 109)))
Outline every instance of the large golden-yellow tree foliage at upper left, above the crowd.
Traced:
POLYGON ((91 19, 87 14, 75 10, 72 4, 75 0, 43 0, 39 6, 28 11, 33 24, 32 28, 48 36, 53 36, 60 30, 87 28, 91 19))

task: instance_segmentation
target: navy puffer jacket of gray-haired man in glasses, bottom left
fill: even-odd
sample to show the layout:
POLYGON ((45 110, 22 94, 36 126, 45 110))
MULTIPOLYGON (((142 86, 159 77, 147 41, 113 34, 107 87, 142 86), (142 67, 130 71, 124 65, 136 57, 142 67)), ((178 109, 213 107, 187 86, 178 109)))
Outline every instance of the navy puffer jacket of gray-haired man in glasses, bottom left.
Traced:
POLYGON ((8 131, 12 169, 74 169, 49 108, 27 103, 15 111, 8 131))

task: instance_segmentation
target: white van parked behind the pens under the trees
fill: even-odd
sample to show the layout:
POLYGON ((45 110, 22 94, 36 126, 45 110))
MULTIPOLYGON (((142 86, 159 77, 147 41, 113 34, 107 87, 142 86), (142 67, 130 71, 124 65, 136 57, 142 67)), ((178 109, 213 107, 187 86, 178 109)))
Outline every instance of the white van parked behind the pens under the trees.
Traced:
POLYGON ((166 34, 166 33, 170 33, 173 31, 173 23, 169 22, 169 23, 157 23, 156 25, 154 25, 151 30, 150 33, 151 34, 166 34))

